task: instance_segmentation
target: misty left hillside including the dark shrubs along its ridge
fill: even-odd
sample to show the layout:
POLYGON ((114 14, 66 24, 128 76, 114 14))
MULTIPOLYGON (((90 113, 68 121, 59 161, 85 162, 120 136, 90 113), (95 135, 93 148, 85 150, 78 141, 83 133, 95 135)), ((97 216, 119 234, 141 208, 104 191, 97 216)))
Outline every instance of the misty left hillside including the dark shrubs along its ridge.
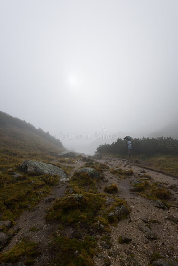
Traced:
POLYGON ((65 150, 49 132, 0 111, 0 170, 23 160, 47 160, 50 152, 65 150))

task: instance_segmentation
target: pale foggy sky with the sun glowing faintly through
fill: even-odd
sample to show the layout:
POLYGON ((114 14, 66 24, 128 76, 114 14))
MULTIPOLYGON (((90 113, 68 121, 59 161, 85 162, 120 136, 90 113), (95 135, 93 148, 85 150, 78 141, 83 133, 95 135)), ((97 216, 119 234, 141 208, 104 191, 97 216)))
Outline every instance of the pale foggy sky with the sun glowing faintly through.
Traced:
POLYGON ((0 110, 54 136, 177 121, 177 12, 177 0, 0 0, 0 110))

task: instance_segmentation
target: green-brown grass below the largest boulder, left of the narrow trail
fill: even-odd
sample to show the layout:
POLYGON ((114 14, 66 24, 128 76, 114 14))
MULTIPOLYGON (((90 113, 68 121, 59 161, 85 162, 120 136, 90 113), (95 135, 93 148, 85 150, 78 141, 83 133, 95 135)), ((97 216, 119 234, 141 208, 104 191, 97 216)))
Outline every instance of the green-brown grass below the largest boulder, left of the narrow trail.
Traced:
POLYGON ((23 174, 25 179, 16 181, 8 172, 0 173, 0 177, 3 178, 0 194, 1 220, 11 220, 12 223, 24 210, 29 207, 33 209, 60 180, 58 176, 29 176, 22 172, 19 173, 23 174), (32 181, 35 182, 31 184, 32 181))

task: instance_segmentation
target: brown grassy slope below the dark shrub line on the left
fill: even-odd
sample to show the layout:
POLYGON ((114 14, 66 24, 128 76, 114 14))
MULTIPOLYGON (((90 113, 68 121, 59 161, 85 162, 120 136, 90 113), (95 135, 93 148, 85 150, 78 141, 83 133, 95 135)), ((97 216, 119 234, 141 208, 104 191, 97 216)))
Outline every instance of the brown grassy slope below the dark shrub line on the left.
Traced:
POLYGON ((27 159, 45 161, 51 157, 50 152, 63 150, 28 129, 0 126, 0 170, 17 166, 27 159))

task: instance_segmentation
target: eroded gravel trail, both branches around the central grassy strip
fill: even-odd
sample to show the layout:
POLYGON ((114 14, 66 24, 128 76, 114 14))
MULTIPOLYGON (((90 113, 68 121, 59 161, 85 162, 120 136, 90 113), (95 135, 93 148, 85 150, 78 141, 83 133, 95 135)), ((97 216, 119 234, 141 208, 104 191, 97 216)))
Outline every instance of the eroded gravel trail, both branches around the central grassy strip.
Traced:
MULTIPOLYGON (((100 250, 97 249, 96 251, 94 265, 147 266, 154 252, 160 256, 163 255, 166 257, 167 261, 170 261, 172 265, 178 265, 177 223, 165 219, 165 216, 169 215, 178 216, 177 207, 171 207, 166 210, 157 208, 154 206, 155 202, 153 200, 149 200, 146 197, 137 195, 136 192, 130 191, 130 189, 133 188, 130 182, 131 179, 138 179, 137 174, 140 173, 142 168, 130 165, 128 160, 123 160, 121 158, 105 157, 101 160, 97 159, 97 161, 107 164, 110 168, 109 170, 103 170, 105 181, 106 179, 108 179, 108 181, 99 181, 97 186, 98 191, 105 193, 105 186, 116 183, 119 187, 119 191, 112 195, 126 201, 130 210, 130 217, 119 221, 117 227, 110 225, 111 246, 108 249, 101 248, 101 243, 103 242, 103 240, 101 240, 102 235, 97 236, 100 250), (118 178, 116 175, 110 173, 111 169, 119 167, 125 170, 131 167, 134 174, 132 176, 118 178), (147 239, 143 232, 139 230, 140 225, 146 225, 146 223, 142 221, 142 218, 147 218, 152 221, 152 223, 149 223, 149 226, 156 235, 156 239, 147 239), (157 220, 157 222, 155 222, 155 220, 157 220), (119 244, 119 236, 126 236, 132 239, 132 241, 128 244, 119 244), (108 259, 109 262, 106 262, 106 259, 108 259)), ((83 165, 84 162, 81 161, 71 164, 71 166, 74 166, 74 169, 70 173, 70 177, 76 169, 83 165)), ((146 170, 145 174, 151 176, 152 179, 150 182, 163 183, 164 186, 169 186, 171 184, 178 185, 178 179, 176 178, 150 170, 146 170)), ((52 234, 58 230, 59 224, 57 222, 46 223, 45 210, 47 207, 52 206, 54 199, 49 200, 49 202, 46 202, 46 200, 65 196, 65 189, 67 186, 68 182, 59 183, 58 186, 54 187, 52 194, 39 202, 33 212, 26 211, 19 217, 17 226, 19 226, 21 230, 12 238, 10 243, 4 247, 3 252, 9 251, 20 239, 26 236, 31 241, 40 242, 39 248, 41 250, 41 255, 35 258, 34 265, 50 265, 51 260, 55 257, 55 252, 50 249, 49 243, 52 240, 52 234), (39 231, 29 231, 33 226, 38 228, 39 231)), ((176 203, 178 203, 178 192, 171 190, 171 193, 171 198, 174 199, 174 205, 176 206, 176 203)), ((110 197, 109 194, 108 197, 110 197)), ((68 229, 70 231, 70 228, 68 229)))

